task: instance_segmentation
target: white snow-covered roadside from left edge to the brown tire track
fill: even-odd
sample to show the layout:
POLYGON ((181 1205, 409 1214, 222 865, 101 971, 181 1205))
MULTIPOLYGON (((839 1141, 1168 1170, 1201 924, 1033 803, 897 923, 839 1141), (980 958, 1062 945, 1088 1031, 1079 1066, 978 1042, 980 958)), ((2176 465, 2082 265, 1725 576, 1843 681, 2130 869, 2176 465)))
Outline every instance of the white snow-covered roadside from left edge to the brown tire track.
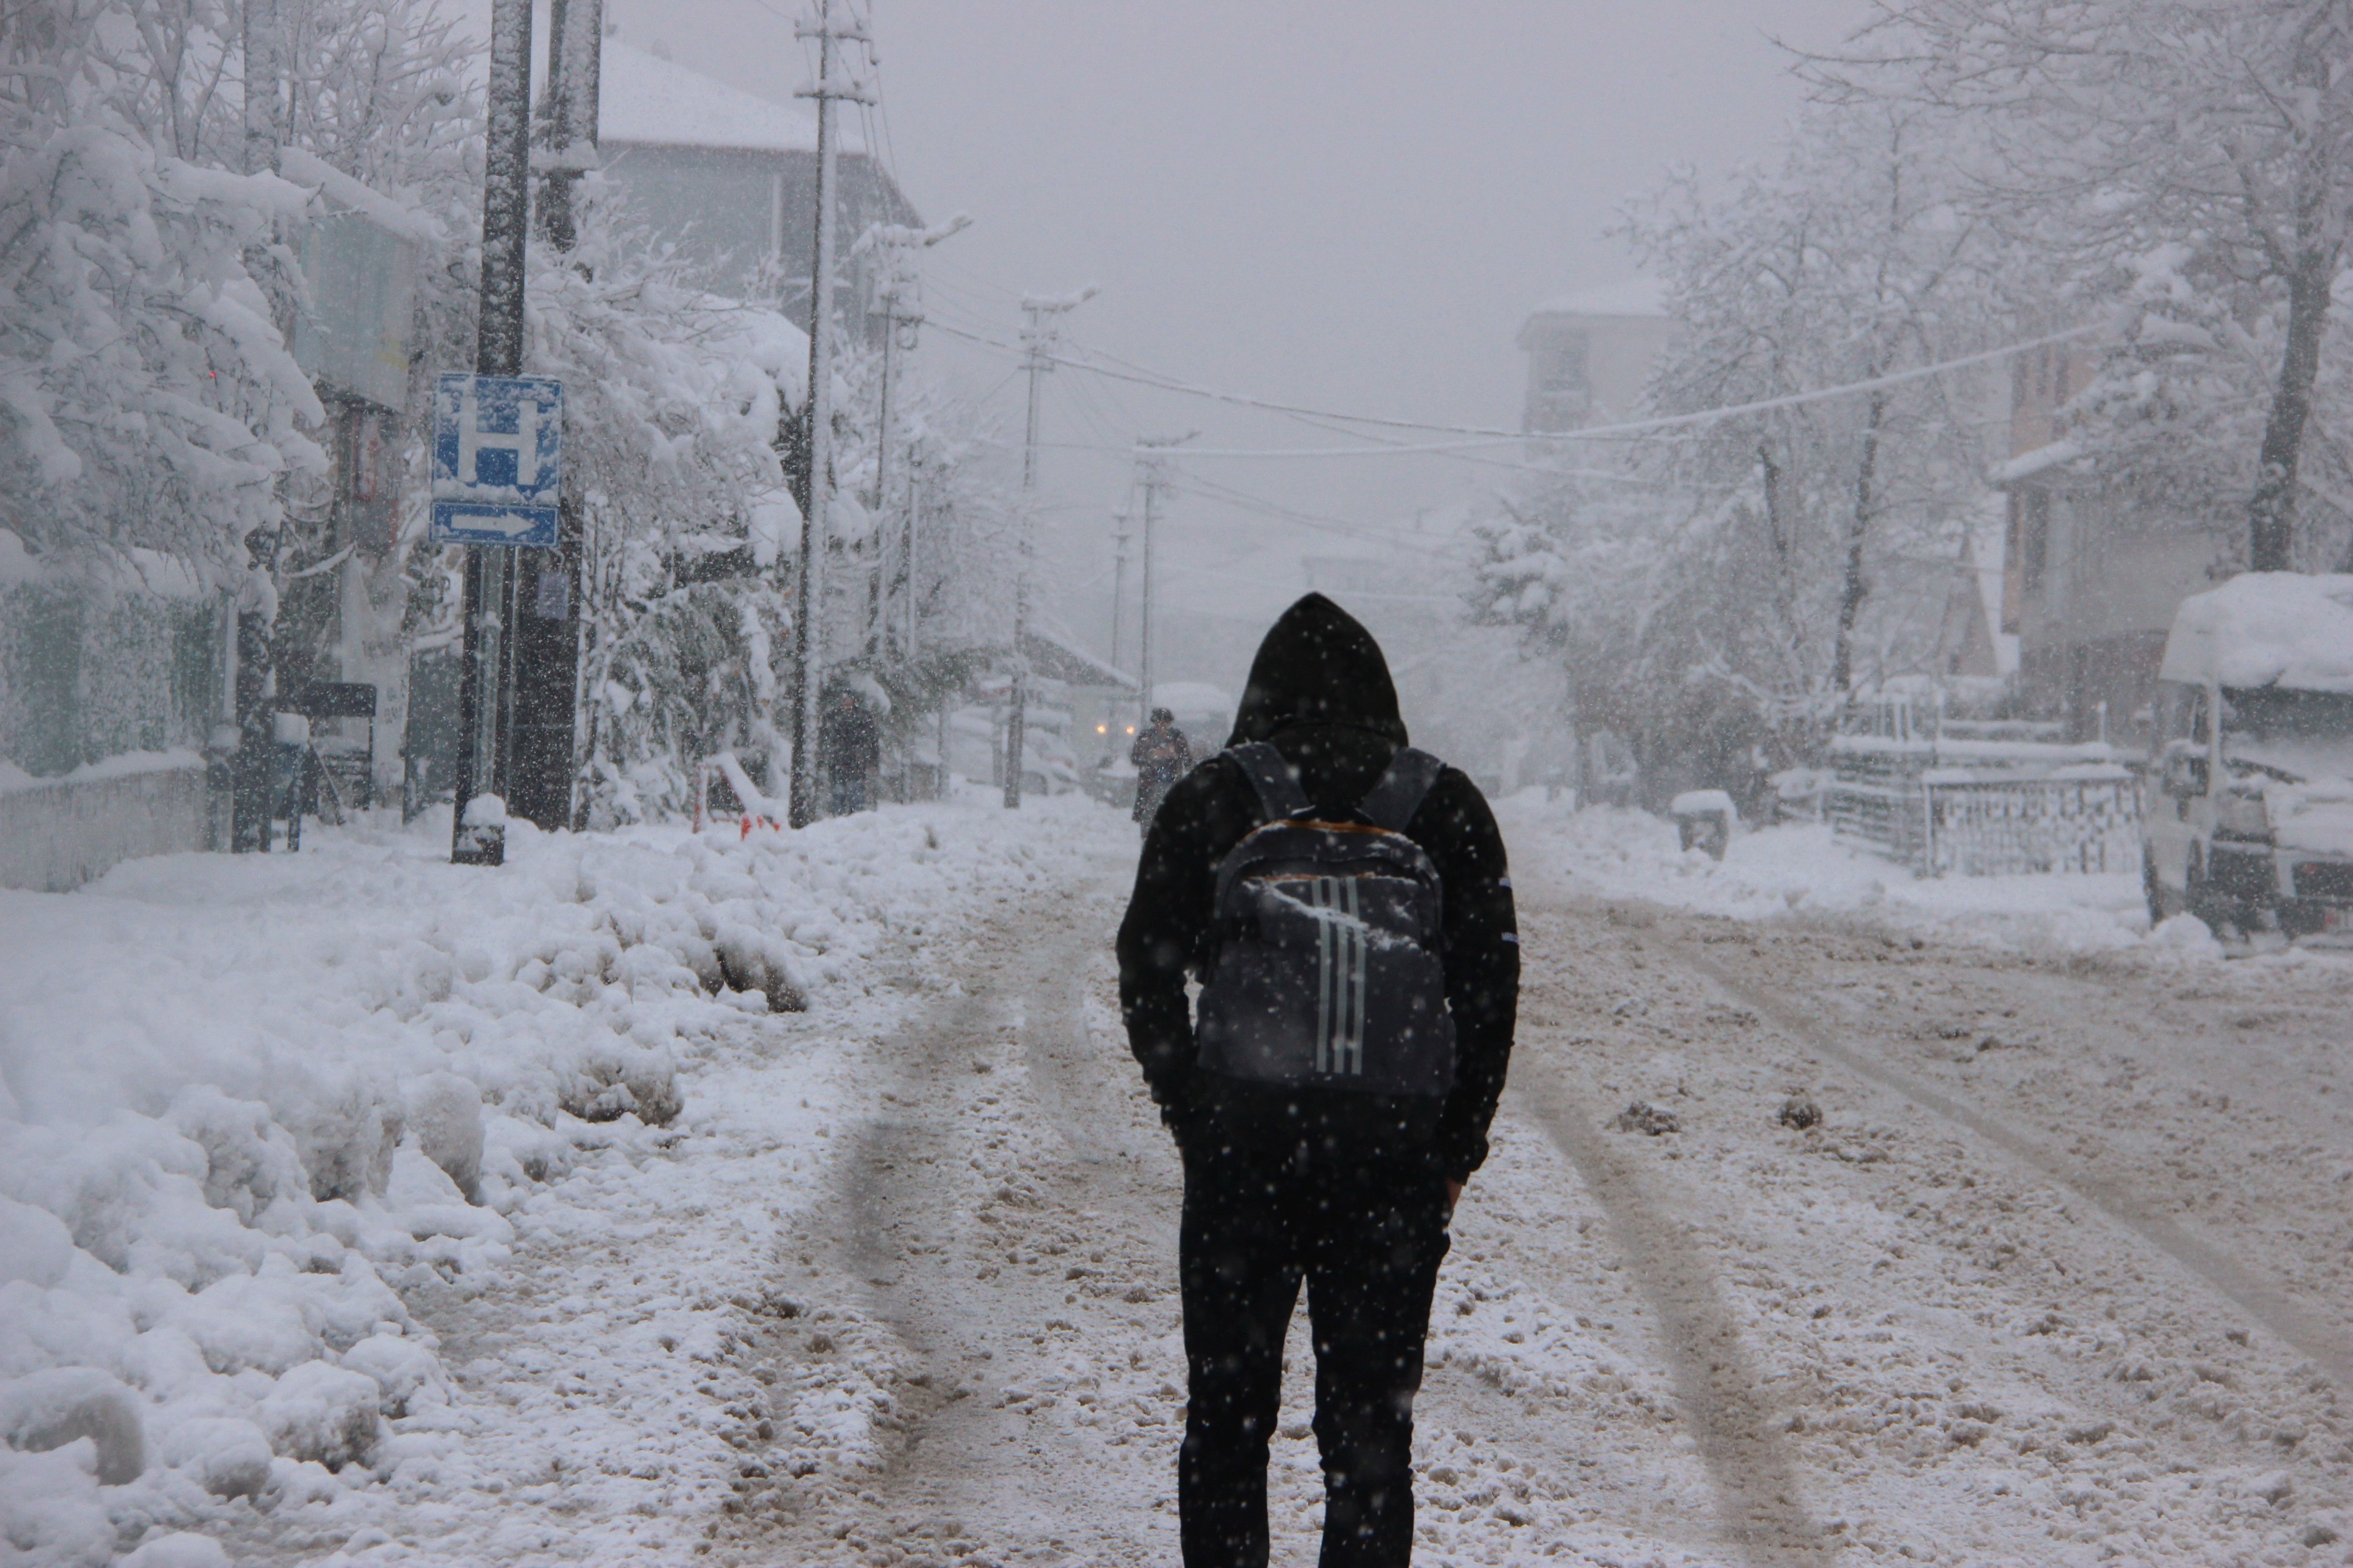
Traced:
MULTIPOLYGON (((1078 799, 496 872, 353 830, 0 893, 5 1549, 692 1556, 861 1051, 991 898, 1132 844, 1078 799)), ((871 1458, 856 1368, 805 1394, 791 1462, 871 1458)))

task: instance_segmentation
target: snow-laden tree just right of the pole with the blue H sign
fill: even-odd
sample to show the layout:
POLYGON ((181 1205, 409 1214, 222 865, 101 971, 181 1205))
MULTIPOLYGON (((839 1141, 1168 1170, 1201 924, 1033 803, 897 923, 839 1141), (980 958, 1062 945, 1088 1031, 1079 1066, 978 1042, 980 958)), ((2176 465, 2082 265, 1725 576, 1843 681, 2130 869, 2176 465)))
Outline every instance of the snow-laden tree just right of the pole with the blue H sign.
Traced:
POLYGON ((584 820, 678 811, 701 757, 779 755, 800 512, 776 437, 807 339, 692 287, 593 186, 572 252, 532 247, 532 374, 562 376, 584 517, 584 820), (586 440, 581 440, 586 437, 586 440))

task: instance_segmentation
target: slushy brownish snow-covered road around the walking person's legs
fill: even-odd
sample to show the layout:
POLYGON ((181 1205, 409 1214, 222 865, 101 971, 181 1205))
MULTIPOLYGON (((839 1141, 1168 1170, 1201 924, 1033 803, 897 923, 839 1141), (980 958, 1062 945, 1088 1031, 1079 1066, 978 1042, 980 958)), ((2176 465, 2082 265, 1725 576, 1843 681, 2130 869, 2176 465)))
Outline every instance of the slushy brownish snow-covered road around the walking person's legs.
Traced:
MULTIPOLYGON (((896 1458, 741 1488, 744 1561, 1169 1561, 1176 1166, 1115 912, 1108 875, 1019 910, 894 1041, 831 1272, 915 1385, 896 1458)), ((1419 1406, 1428 1561, 2344 1561, 2339 964, 1586 900, 1527 931, 1419 1406), (1617 1128, 1633 1100, 1680 1131, 1617 1128)))

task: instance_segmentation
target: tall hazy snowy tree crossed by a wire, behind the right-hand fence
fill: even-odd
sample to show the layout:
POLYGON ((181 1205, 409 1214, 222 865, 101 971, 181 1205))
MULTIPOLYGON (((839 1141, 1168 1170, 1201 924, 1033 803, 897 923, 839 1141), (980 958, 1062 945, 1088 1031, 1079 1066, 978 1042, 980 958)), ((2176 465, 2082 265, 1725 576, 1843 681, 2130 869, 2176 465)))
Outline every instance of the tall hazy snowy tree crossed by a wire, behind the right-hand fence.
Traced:
POLYGON ((1737 174, 1713 200, 1678 181, 1628 223, 1680 327, 1654 409, 1798 400, 1661 433, 1647 456, 1741 536, 1762 592, 1744 628, 1755 649, 1729 668, 1784 708, 1835 708, 1880 675, 1857 658, 1866 602, 1911 557, 1958 559, 1995 456, 1986 371, 1889 383, 2002 327, 2005 256, 1955 207, 1953 143, 1925 120, 1821 106, 1779 169, 1737 174), (1817 395, 1840 386, 1864 390, 1817 395))

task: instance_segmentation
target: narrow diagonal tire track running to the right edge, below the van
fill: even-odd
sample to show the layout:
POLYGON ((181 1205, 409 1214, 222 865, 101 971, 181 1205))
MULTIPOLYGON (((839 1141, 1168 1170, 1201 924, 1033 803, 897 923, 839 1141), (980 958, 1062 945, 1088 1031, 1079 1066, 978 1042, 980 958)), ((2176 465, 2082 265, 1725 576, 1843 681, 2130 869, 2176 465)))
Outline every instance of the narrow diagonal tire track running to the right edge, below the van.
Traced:
POLYGON ((2137 1201, 2115 1182, 2092 1175, 2078 1161, 2059 1154, 2040 1138, 2024 1133, 1939 1088, 1932 1088, 1929 1084, 1922 1084, 1918 1077, 1904 1072, 1901 1067, 1892 1067, 1861 1046, 1849 1046, 1835 1039, 1828 1030, 1791 1006, 1788 999, 1741 980, 1713 954, 1697 952, 1689 940, 1668 936, 1666 931, 1661 931, 1661 936, 1673 943, 1673 950, 1685 969, 1708 978, 1727 997, 1755 1009, 1758 1016, 1767 1018, 1793 1041, 1800 1041, 1809 1051, 1819 1051, 1857 1077, 1878 1084, 1882 1091, 1897 1093, 1920 1110, 1974 1133, 2012 1159, 2026 1164, 2045 1180, 2075 1192, 2108 1215, 2108 1220, 2120 1229, 2165 1253, 2177 1265, 2202 1279, 2217 1295, 2264 1324, 2264 1328, 2275 1333, 2280 1342, 2294 1347, 2299 1356, 2325 1371, 2339 1389, 2353 1392, 2353 1347, 2306 1314, 2259 1269, 2188 1234, 2181 1225, 2137 1201))

